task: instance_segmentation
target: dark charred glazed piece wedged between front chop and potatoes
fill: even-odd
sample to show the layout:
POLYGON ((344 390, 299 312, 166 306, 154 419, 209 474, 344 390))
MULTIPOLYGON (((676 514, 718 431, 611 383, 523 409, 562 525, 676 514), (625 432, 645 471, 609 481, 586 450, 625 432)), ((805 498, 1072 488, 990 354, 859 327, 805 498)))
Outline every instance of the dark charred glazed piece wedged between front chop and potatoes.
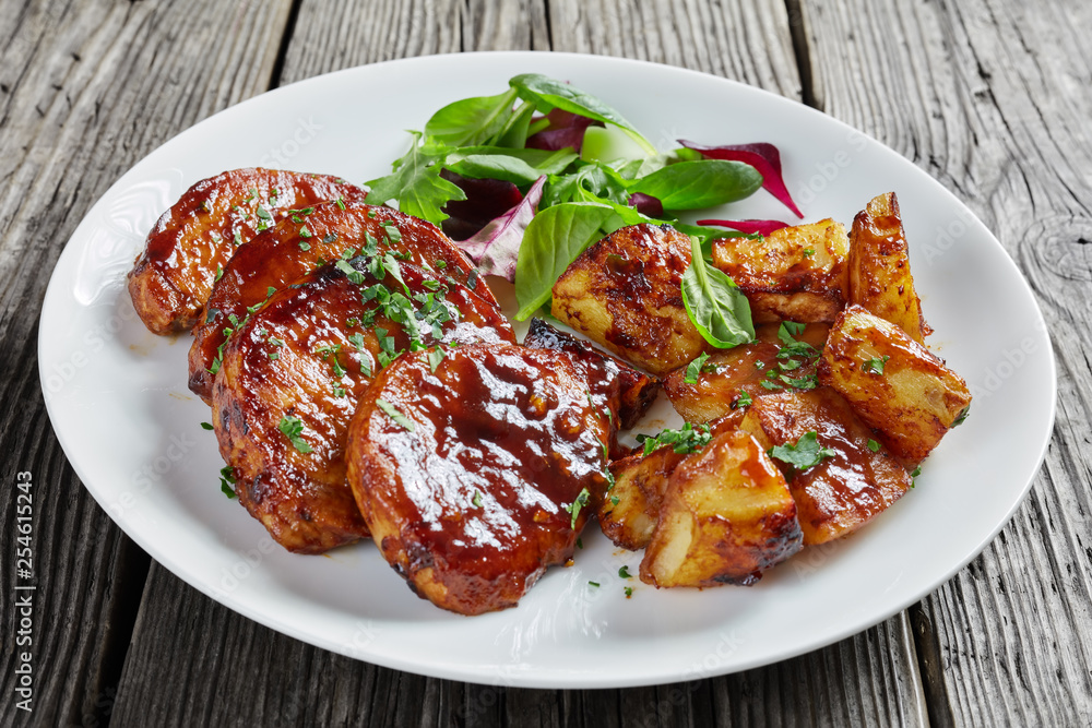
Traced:
POLYGON ((610 407, 616 429, 628 430, 644 417, 660 394, 660 380, 603 354, 587 342, 555 329, 542 319, 532 319, 523 345, 536 349, 556 349, 570 354, 585 367, 589 386, 596 404, 610 407))

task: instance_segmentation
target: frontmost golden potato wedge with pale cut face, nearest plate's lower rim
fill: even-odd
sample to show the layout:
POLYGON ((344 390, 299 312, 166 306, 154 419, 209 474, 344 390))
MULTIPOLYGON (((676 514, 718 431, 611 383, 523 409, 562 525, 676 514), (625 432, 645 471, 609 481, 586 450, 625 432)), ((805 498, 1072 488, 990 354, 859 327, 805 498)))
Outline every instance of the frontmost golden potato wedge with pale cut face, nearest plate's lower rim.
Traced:
POLYGON ((799 551, 802 539, 781 472, 750 434, 724 432, 672 473, 641 581, 753 584, 799 551))

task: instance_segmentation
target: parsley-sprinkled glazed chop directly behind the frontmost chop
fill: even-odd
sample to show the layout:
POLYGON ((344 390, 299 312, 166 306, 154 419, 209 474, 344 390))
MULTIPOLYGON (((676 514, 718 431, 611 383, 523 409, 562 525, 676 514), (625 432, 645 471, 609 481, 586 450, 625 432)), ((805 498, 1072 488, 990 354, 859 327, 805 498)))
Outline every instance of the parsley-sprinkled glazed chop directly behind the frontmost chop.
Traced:
MULTIPOLYGON (((375 298, 363 300, 361 293, 380 283, 367 273, 367 261, 353 265, 360 283, 328 265, 274 294, 228 338, 213 386, 213 426, 239 502, 277 542, 301 553, 368 535, 345 482, 348 423, 381 368, 383 344, 388 353, 411 344, 405 325, 375 298), (372 325, 354 321, 370 315, 372 325), (298 420, 295 444, 294 420, 286 418, 298 420)), ((434 278, 424 271, 402 264, 401 276, 411 296, 432 293, 434 278)), ((392 295, 405 293, 393 275, 382 284, 392 295)), ((459 284, 447 286, 443 301, 460 313, 438 323, 439 336, 418 322, 423 345, 514 342, 492 306, 459 284)))

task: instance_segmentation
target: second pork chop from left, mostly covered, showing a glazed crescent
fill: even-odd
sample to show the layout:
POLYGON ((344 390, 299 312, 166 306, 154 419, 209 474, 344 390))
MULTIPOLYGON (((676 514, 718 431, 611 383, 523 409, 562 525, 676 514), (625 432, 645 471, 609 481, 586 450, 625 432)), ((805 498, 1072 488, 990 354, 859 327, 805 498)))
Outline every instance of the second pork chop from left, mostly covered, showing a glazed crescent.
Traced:
POLYGON ((233 317, 241 321, 249 308, 269 298, 270 288, 283 288, 322 262, 335 261, 346 250, 354 251, 352 256, 361 247, 375 248, 380 254, 389 252, 438 281, 451 278, 496 306, 470 260, 431 223, 363 202, 318 204, 310 212, 289 215, 240 246, 227 262, 209 296, 204 317, 193 329, 190 390, 205 402, 211 398, 213 375, 209 370, 233 317))

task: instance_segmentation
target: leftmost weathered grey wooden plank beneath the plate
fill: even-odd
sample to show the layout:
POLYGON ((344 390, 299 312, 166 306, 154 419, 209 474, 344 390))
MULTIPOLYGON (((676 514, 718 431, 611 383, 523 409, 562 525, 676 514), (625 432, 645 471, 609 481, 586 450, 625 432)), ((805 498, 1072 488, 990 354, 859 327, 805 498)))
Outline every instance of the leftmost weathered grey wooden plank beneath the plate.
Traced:
POLYGON ((169 135, 266 87, 288 2, 0 0, 0 620, 16 624, 15 473, 34 481, 34 712, 0 723, 102 725, 147 570, 68 466, 46 416, 37 321, 91 204, 169 135), (181 32, 186 28, 187 32, 181 32), (225 33, 230 28, 230 33, 225 33))

